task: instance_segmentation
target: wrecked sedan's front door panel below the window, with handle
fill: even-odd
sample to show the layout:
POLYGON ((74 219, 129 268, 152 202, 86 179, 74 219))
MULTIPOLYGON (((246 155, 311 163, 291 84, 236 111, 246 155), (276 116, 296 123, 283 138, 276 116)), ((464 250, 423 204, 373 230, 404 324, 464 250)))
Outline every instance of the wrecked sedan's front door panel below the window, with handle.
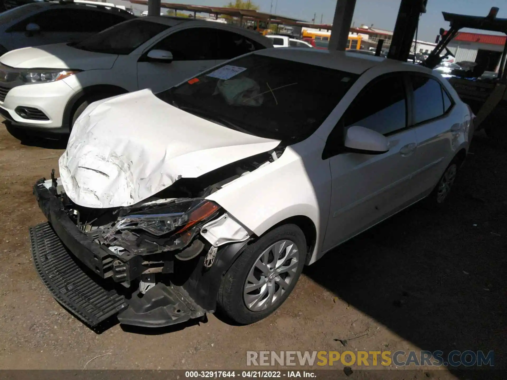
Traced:
POLYGON ((353 237, 411 201, 415 156, 401 150, 415 141, 415 132, 406 130, 389 137, 389 151, 382 155, 344 153, 330 159, 332 206, 323 250, 353 237))

